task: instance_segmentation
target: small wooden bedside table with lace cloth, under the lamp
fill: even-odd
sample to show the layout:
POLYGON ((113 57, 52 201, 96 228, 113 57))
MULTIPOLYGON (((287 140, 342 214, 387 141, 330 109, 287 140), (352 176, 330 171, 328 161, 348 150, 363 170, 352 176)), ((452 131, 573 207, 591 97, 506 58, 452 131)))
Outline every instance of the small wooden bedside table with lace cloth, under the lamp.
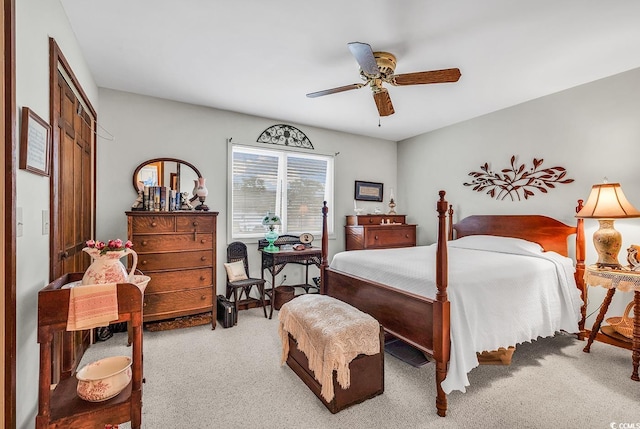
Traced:
POLYGON ((589 334, 589 340, 583 351, 589 353, 591 343, 596 338, 596 335, 600 331, 600 325, 602 319, 604 319, 611 299, 616 293, 616 290, 624 292, 634 291, 634 319, 633 319, 633 339, 631 340, 631 356, 633 361, 633 372, 631 373, 631 379, 640 381, 638 377, 638 366, 640 364, 640 271, 629 270, 613 270, 613 269, 601 269, 595 265, 590 265, 585 269, 584 280, 588 286, 601 286, 609 289, 607 295, 602 302, 602 307, 596 317, 596 321, 593 324, 591 333, 589 334))

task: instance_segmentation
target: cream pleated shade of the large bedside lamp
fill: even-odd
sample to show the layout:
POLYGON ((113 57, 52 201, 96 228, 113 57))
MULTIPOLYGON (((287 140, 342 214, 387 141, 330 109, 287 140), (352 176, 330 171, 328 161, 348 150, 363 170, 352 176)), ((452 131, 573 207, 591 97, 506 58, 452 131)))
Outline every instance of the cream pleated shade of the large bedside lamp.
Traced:
POLYGON ((593 185, 578 218, 621 219, 640 217, 640 212, 624 196, 619 183, 593 185))

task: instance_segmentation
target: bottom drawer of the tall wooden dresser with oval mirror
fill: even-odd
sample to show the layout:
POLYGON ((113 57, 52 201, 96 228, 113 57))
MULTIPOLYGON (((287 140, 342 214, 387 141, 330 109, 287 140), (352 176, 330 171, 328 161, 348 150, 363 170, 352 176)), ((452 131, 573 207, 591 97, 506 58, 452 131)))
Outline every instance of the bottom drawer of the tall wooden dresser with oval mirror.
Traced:
POLYGON ((188 289, 171 293, 144 294, 144 320, 168 319, 184 314, 211 311, 213 289, 211 287, 188 289))

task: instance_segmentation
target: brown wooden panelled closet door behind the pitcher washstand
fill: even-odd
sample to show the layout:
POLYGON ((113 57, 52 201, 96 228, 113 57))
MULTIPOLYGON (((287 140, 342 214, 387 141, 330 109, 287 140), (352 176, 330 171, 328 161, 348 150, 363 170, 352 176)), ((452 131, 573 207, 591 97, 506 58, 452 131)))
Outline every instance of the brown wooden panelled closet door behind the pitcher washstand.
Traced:
MULTIPOLYGON (((54 157, 51 189, 51 278, 82 272, 90 263, 82 252, 92 237, 93 131, 91 118, 58 72, 52 97, 54 157)), ((54 382, 70 376, 90 343, 90 331, 67 332, 54 339, 54 382)))

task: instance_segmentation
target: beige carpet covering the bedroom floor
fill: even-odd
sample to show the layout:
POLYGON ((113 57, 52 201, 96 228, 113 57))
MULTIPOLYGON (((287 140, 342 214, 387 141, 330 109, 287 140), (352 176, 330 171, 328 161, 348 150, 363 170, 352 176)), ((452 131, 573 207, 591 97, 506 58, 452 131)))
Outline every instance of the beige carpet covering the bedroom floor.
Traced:
MULTIPOLYGON (((238 325, 144 333, 142 426, 158 428, 609 428, 640 426, 631 352, 558 335, 519 345, 510 366, 481 366, 467 393, 435 408, 434 366, 385 355, 385 392, 331 414, 286 365, 277 314, 242 311, 238 325)), ((93 345, 82 364, 127 354, 126 333, 93 345)), ((121 425, 128 428, 128 425, 121 425)))

